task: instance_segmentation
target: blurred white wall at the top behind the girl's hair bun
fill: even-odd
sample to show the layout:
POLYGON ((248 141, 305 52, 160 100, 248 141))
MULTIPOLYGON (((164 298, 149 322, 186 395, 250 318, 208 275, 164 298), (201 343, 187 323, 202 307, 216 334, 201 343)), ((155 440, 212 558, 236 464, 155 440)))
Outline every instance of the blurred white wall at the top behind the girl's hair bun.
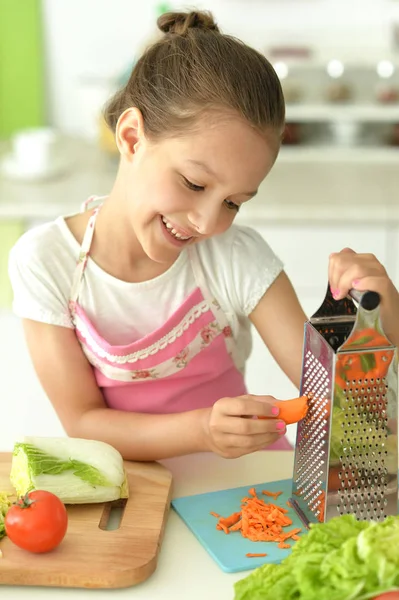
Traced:
MULTIPOLYGON (((48 102, 53 124, 88 133, 100 85, 121 73, 154 31, 157 0, 43 0, 48 102), (93 83, 94 78, 94 83, 93 83), (83 81, 85 85, 82 85, 83 81), (92 85, 88 86, 87 81, 92 85)), ((391 47, 394 0, 197 0, 170 2, 213 11, 226 33, 265 50, 277 43, 309 43, 323 56, 383 57, 391 47)))

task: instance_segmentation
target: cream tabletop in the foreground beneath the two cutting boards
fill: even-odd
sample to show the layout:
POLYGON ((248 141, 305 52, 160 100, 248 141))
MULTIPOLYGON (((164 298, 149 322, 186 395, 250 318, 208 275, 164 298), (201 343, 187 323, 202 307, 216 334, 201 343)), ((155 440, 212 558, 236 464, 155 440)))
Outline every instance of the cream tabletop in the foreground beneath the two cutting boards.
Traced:
MULTIPOLYGON (((0 443, 0 450, 8 451, 10 447, 0 443)), ((173 473, 173 497, 178 497, 289 478, 293 452, 257 452, 235 460, 204 453, 162 463, 173 473)), ((27 596, 31 600, 232 600, 234 582, 247 573, 224 573, 171 509, 158 566, 147 581, 137 586, 120 590, 0 586, 0 593, 10 600, 27 596)))

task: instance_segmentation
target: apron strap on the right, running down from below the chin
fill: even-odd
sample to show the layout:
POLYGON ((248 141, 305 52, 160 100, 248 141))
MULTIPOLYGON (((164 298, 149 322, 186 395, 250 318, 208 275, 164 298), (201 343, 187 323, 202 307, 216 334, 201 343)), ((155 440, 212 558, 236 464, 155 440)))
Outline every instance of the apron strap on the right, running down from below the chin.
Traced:
POLYGON ((191 262, 191 267, 193 269, 195 281, 200 288, 204 299, 208 302, 209 308, 211 309, 213 316, 219 326, 220 332, 224 336, 224 340, 227 347, 227 352, 230 354, 233 359, 234 364, 239 365, 238 361, 238 351, 237 345, 234 341, 231 326, 229 321, 227 320, 226 315, 224 314, 222 307, 220 306, 218 300, 211 294, 205 280, 204 270, 201 265, 200 257, 198 255, 197 248, 195 244, 188 247, 188 255, 191 262))

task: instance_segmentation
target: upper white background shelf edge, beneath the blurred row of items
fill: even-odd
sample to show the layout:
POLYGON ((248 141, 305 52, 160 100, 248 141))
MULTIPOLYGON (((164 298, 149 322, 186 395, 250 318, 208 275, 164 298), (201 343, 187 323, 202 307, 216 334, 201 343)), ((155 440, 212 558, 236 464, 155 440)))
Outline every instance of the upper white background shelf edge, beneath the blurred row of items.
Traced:
POLYGON ((399 123, 399 103, 377 104, 287 104, 287 122, 361 121, 399 123))

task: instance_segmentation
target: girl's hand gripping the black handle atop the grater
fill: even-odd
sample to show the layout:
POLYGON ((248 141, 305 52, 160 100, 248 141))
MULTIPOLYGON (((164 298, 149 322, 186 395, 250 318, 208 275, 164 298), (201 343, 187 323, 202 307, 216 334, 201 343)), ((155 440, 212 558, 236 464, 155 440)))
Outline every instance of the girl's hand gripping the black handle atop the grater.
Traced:
POLYGON ((399 293, 374 254, 357 254, 350 248, 334 252, 330 255, 328 278, 336 300, 352 288, 378 292, 384 332, 394 345, 399 345, 399 293))

